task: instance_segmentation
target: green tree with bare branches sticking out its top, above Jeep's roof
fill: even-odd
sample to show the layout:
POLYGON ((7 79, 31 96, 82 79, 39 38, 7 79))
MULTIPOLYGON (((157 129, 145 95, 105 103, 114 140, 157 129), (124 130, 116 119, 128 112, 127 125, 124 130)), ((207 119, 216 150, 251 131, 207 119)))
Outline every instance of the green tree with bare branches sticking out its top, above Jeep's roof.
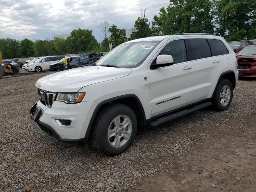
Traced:
POLYGON ((141 10, 141 17, 139 17, 135 21, 134 27, 136 29, 136 32, 132 32, 131 40, 152 36, 150 23, 148 22, 148 19, 145 18, 145 15, 146 15, 146 9, 144 10, 144 16, 141 10))

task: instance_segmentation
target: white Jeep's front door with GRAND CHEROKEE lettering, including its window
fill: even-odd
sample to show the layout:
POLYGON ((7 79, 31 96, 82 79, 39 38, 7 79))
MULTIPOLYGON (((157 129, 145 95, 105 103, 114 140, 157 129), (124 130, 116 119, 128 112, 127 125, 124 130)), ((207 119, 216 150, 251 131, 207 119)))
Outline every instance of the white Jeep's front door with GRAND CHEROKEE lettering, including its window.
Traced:
POLYGON ((154 70, 148 69, 152 116, 193 102, 194 66, 187 56, 186 40, 166 42, 158 53, 162 54, 172 55, 174 64, 154 70))

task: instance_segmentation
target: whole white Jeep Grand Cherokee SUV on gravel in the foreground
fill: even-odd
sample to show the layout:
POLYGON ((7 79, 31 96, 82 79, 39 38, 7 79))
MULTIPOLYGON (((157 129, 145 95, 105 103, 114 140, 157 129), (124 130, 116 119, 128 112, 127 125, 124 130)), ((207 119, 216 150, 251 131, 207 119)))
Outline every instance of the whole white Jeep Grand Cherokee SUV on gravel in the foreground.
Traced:
POLYGON ((60 141, 91 138, 113 156, 138 126, 158 126, 211 106, 226 110, 238 80, 236 54, 224 38, 176 34, 132 40, 94 64, 40 78, 31 118, 60 141))

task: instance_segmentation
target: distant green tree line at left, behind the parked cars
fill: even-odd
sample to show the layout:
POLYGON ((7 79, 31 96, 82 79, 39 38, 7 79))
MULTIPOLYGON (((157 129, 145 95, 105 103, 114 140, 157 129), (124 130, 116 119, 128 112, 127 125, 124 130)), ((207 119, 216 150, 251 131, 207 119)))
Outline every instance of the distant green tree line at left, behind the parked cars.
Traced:
POLYGON ((109 51, 106 40, 103 42, 103 45, 97 42, 92 30, 79 28, 73 30, 67 39, 55 37, 54 40, 35 42, 29 39, 0 39, 0 50, 4 59, 109 51))

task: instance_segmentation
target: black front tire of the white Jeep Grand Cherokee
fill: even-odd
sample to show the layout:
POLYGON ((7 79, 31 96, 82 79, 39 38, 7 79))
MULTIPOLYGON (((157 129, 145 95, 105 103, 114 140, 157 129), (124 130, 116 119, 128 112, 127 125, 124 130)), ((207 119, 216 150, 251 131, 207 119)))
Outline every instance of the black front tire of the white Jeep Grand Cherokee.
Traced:
MULTIPOLYGON (((118 131, 121 132, 121 130, 124 130, 124 127, 122 128, 122 126, 116 126, 116 127, 119 129, 119 130, 116 130, 113 127, 113 130, 116 130, 116 132, 118 131)), ((94 148, 96 148, 96 150, 98 150, 99 152, 102 152, 108 156, 115 156, 117 154, 120 154, 126 151, 130 147, 130 145, 134 141, 136 132, 137 132, 137 119, 136 119, 136 115, 134 114, 134 111, 130 107, 124 104, 119 104, 119 103, 111 104, 102 108, 100 112, 98 112, 97 117, 94 120, 94 125, 92 127, 92 143, 94 145, 94 148), (127 116, 129 118, 131 122, 131 127, 132 127, 130 131, 131 133, 127 141, 125 141, 124 138, 123 140, 121 140, 122 138, 120 139, 120 144, 122 141, 124 141, 124 144, 122 146, 114 147, 110 144, 111 143, 110 140, 112 138, 117 139, 117 137, 119 136, 119 133, 118 133, 118 136, 117 135, 112 136, 112 138, 108 139, 108 130, 112 125, 112 121, 121 115, 127 116)), ((120 136, 121 134, 122 133, 120 133, 120 136)))

